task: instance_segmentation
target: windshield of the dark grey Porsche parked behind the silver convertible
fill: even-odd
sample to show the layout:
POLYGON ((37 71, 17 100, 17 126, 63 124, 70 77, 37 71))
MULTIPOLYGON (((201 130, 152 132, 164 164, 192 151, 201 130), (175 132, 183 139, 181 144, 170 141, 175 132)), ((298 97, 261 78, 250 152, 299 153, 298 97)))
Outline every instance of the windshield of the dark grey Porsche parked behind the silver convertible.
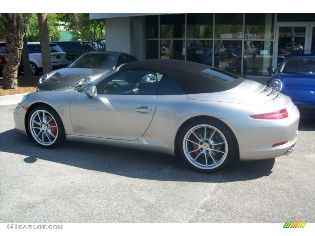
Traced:
POLYGON ((112 70, 114 68, 116 57, 104 53, 86 53, 75 60, 69 67, 76 68, 96 68, 112 70))

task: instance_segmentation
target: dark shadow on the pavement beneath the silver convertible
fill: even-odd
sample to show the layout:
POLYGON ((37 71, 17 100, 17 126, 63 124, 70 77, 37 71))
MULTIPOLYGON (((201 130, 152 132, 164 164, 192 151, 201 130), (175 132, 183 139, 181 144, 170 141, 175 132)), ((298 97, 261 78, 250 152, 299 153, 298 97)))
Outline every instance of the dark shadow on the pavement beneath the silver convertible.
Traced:
POLYGON ((91 171, 162 181, 245 181, 270 175, 275 163, 274 159, 247 162, 233 160, 222 171, 203 174, 186 166, 180 158, 149 151, 79 142, 65 142, 54 149, 43 149, 15 129, 1 133, 0 141, 2 153, 22 155, 23 161, 30 165, 40 159, 91 171))

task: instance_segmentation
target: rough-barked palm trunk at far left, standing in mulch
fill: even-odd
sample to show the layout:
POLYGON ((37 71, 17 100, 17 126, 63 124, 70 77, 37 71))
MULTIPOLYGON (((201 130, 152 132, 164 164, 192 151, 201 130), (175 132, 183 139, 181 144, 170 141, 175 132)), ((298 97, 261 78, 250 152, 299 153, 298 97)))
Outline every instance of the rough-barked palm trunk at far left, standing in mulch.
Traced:
POLYGON ((1 13, 0 24, 5 34, 5 59, 3 67, 3 89, 16 89, 18 67, 23 49, 24 26, 27 13, 1 13))

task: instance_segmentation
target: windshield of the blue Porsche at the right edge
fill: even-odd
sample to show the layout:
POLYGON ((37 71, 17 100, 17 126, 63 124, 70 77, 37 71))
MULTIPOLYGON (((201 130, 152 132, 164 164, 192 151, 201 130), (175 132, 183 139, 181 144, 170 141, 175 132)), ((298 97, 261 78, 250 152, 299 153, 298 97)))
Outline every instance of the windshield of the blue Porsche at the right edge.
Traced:
POLYGON ((315 57, 288 57, 279 68, 279 72, 315 74, 315 57))

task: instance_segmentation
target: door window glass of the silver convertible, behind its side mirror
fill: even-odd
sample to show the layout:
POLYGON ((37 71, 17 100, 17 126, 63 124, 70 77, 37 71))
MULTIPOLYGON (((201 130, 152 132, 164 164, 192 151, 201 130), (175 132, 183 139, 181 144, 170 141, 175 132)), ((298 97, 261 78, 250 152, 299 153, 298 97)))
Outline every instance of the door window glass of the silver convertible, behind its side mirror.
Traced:
POLYGON ((129 70, 113 75, 96 85, 98 94, 154 95, 162 74, 147 70, 129 70))

